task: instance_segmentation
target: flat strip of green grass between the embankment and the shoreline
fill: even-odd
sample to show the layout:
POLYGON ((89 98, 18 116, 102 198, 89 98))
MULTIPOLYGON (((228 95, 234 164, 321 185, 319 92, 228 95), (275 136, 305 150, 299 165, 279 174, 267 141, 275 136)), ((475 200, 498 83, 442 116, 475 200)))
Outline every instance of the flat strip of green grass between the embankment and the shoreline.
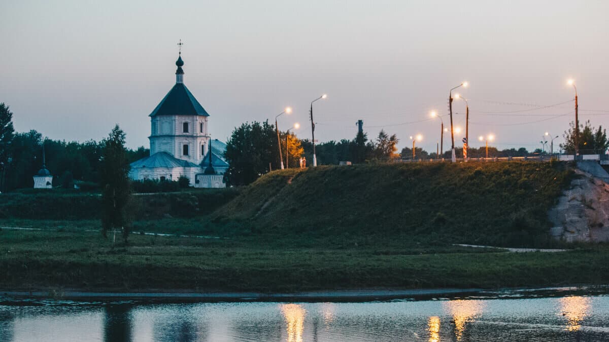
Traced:
POLYGON ((295 237, 192 239, 0 231, 0 288, 299 291, 607 284, 609 250, 505 253, 453 246, 355 246, 295 237))

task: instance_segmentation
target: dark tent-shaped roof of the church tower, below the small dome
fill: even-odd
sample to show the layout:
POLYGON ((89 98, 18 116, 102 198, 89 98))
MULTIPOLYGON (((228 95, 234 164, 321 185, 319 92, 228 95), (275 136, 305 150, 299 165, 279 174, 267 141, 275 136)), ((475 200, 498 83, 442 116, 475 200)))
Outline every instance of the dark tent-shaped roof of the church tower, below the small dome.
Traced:
POLYGON ((157 115, 209 116, 184 83, 175 83, 174 88, 171 88, 157 108, 150 113, 150 116, 157 115))

